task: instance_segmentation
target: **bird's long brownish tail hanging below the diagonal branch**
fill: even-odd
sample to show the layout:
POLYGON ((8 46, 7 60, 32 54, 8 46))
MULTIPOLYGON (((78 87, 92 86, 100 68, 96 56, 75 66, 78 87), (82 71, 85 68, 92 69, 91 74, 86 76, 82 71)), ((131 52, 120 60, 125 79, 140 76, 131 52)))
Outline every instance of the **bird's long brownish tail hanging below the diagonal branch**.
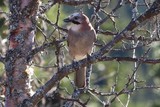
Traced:
POLYGON ((86 86, 86 67, 82 67, 75 73, 75 85, 78 88, 86 86))

